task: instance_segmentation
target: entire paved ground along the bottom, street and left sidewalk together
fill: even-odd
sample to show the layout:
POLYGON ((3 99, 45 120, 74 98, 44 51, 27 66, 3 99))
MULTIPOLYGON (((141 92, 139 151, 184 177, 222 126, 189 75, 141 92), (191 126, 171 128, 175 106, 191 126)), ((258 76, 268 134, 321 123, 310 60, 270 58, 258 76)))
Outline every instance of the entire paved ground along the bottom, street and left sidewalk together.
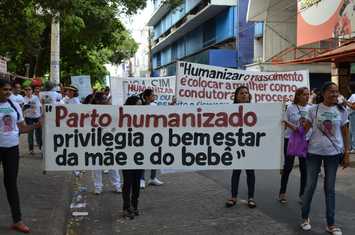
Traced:
MULTIPOLYGON (((22 140, 23 141, 23 140, 22 140)), ((289 202, 276 200, 278 171, 257 171, 256 209, 245 204, 246 183, 242 173, 240 203, 227 209, 231 171, 198 171, 162 174, 161 187, 149 186, 141 192, 141 215, 134 220, 121 217, 122 196, 113 192, 104 175, 104 192, 94 195, 91 172, 80 178, 71 172, 42 174, 37 152, 29 156, 21 151, 19 188, 23 218, 32 234, 326 234, 324 231, 324 196, 318 185, 312 207, 312 232, 299 230, 300 205, 297 201, 298 169, 290 177, 289 202), (86 207, 70 209, 71 202, 86 207), (72 212, 88 212, 72 216, 72 212)), ((354 157, 352 157, 354 167, 354 157)), ((148 175, 147 175, 148 176, 148 175)), ((0 171, 2 177, 2 171, 0 171)), ((337 181, 337 221, 344 234, 355 231, 355 168, 339 170, 337 181)), ((322 178, 320 178, 321 182, 322 178)), ((11 223, 3 185, 0 187, 0 234, 16 234, 11 223)))

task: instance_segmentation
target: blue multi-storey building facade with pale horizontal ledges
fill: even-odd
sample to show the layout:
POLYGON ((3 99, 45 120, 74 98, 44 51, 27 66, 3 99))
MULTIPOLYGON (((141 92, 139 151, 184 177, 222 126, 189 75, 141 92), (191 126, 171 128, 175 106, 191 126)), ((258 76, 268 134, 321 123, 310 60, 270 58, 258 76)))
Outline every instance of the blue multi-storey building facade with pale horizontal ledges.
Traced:
POLYGON ((171 8, 165 1, 154 1, 155 10, 148 22, 152 27, 152 75, 175 75, 177 60, 231 68, 248 60, 250 63, 254 27, 245 21, 247 2, 182 0, 171 8), (244 22, 239 22, 243 16, 244 22), (238 40, 241 35, 242 40, 238 40), (251 48, 246 49, 248 46, 251 48))

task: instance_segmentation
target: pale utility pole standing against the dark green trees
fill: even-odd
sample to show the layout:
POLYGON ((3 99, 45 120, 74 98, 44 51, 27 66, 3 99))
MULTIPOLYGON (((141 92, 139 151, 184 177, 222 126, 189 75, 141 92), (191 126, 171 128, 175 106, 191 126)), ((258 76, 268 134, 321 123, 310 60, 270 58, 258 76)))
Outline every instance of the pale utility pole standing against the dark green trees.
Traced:
POLYGON ((60 24, 59 13, 52 17, 51 26, 51 54, 50 54, 50 81, 59 85, 60 83, 60 24))

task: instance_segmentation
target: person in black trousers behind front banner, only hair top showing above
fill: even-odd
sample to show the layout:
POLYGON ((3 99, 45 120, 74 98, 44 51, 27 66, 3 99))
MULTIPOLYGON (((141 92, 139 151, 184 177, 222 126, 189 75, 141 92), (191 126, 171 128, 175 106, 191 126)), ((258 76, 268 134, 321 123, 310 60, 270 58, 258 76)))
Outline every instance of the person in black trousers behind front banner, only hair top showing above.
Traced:
MULTIPOLYGON (((127 98, 125 105, 142 105, 142 102, 138 96, 130 96, 127 98)), ((134 216, 139 215, 138 198, 139 198, 140 180, 143 173, 144 170, 122 170, 123 217, 125 218, 133 219, 134 216)))

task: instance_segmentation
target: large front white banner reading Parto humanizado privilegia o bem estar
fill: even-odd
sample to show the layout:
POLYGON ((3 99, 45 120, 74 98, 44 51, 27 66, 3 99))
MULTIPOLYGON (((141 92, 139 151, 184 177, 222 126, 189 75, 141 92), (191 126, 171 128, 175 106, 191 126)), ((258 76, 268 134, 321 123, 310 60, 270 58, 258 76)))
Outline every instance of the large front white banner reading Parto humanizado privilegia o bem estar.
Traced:
POLYGON ((45 170, 280 169, 281 103, 45 108, 45 170))

